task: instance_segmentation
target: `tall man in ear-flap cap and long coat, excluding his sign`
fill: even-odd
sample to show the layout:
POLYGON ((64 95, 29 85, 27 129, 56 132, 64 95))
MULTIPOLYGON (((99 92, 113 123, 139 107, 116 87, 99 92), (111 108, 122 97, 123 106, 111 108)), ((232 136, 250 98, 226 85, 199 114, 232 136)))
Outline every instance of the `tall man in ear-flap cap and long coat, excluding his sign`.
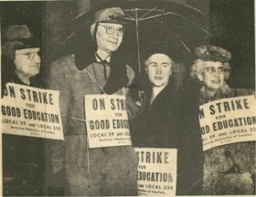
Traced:
MULTIPOLYGON (((96 12, 90 26, 96 48, 63 56, 51 65, 49 88, 60 90, 65 142, 51 142, 53 174, 64 168, 68 195, 137 195, 137 155, 131 146, 88 148, 84 96, 126 95, 134 72, 116 55, 122 43, 124 12, 96 12)), ((86 44, 86 43, 84 43, 86 44)))

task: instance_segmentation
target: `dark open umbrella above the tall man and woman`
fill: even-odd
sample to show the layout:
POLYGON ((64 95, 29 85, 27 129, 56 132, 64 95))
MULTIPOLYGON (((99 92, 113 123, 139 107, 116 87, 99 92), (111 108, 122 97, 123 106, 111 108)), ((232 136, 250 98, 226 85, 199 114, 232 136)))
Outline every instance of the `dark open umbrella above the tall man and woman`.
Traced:
MULTIPOLYGON (((206 15, 186 3, 137 1, 115 6, 125 10, 125 20, 128 22, 121 48, 125 52, 125 59, 131 65, 136 65, 134 68, 139 73, 142 71, 141 54, 154 40, 169 43, 181 60, 193 54, 195 47, 209 40, 206 15)), ((90 39, 90 25, 95 12, 96 9, 90 9, 73 19, 74 32, 67 38, 67 43, 73 38, 81 43, 81 36, 78 36, 81 33, 84 40, 90 39)))

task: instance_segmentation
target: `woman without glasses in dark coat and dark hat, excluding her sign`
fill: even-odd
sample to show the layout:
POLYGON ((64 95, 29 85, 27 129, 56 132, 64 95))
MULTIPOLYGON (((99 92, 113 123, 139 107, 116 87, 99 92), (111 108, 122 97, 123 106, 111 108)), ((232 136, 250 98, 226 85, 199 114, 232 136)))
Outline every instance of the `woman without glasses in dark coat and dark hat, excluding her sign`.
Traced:
POLYGON ((177 148, 176 194, 201 194, 202 147, 201 136, 195 132, 197 113, 177 84, 176 54, 166 42, 155 41, 144 51, 143 63, 148 84, 131 132, 132 144, 136 148, 177 148))

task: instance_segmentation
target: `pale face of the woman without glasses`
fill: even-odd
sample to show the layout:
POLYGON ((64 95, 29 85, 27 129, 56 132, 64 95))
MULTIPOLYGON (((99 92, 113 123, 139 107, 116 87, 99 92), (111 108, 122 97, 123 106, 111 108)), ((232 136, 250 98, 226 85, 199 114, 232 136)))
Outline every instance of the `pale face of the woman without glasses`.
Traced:
POLYGON ((148 57, 145 70, 149 81, 155 87, 162 87, 169 82, 172 74, 172 60, 164 54, 154 54, 148 57))

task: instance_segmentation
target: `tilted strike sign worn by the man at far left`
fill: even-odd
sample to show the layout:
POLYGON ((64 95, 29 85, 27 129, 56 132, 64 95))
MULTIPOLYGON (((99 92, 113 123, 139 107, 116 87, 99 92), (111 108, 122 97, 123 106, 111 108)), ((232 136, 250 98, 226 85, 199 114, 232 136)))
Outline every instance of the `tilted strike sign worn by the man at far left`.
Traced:
POLYGON ((3 133, 63 140, 58 91, 8 83, 1 119, 3 133))

